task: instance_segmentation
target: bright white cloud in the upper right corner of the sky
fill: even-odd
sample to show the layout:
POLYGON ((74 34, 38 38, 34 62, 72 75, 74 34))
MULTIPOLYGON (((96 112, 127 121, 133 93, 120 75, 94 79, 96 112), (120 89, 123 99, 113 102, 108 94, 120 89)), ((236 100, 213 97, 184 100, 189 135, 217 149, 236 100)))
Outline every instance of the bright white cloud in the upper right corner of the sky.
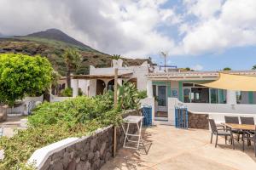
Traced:
POLYGON ((227 48, 256 45, 256 1, 214 1, 218 5, 208 13, 206 10, 214 5, 195 2, 188 6, 189 14, 197 17, 195 22, 184 22, 180 27, 184 37, 179 48, 183 54, 218 53, 227 48))

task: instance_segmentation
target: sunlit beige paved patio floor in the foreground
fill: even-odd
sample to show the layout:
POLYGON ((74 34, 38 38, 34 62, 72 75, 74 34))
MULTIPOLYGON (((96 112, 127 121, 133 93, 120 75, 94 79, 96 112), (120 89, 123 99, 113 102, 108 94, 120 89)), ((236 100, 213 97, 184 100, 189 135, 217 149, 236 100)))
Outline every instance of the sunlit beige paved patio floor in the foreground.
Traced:
MULTIPOLYGON (((121 149, 102 170, 159 169, 159 170, 243 170, 256 169, 253 146, 241 151, 219 138, 218 147, 210 144, 210 132, 201 129, 176 129, 172 126, 156 126, 143 129, 148 154, 143 149, 121 149)), ((213 137, 215 142, 215 137, 213 137)))

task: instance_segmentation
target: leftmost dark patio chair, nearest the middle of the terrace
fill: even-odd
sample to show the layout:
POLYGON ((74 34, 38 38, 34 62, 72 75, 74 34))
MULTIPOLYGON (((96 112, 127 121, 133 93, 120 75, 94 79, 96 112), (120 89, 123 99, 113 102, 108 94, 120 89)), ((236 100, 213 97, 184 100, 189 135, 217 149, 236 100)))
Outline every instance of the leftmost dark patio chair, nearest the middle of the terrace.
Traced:
MULTIPOLYGON (((215 148, 217 147, 217 144, 218 144, 218 136, 224 136, 225 137, 225 144, 227 144, 227 137, 228 136, 230 136, 231 141, 233 141, 233 135, 232 135, 231 131, 225 131, 224 126, 222 126, 222 125, 217 126, 213 119, 209 119, 209 123, 210 123, 210 127, 211 127, 211 130, 212 130, 211 144, 212 144, 213 134, 216 135, 215 148), (222 127, 222 128, 218 128, 218 127, 222 127)), ((233 144, 233 149, 235 150, 234 142, 232 142, 232 144, 233 144)))

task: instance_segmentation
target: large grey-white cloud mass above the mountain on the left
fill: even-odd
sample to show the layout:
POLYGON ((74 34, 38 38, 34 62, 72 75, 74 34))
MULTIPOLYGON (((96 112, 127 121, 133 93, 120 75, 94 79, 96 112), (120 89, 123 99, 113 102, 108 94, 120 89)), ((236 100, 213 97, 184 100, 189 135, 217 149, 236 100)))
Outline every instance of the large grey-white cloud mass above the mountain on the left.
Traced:
POLYGON ((26 35, 55 27, 108 54, 146 57, 174 46, 172 37, 157 30, 175 18, 172 9, 160 8, 163 3, 166 0, 1 0, 0 32, 26 35))

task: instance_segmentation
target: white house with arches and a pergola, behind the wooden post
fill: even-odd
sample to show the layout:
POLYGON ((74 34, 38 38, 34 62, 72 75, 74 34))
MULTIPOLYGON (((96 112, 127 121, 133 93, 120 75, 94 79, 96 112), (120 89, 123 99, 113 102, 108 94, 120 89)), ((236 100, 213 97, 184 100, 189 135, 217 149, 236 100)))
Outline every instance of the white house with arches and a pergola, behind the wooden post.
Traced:
POLYGON ((114 69, 118 69, 118 82, 133 82, 138 90, 146 90, 147 77, 152 69, 147 61, 142 65, 123 65, 123 60, 113 59, 113 67, 95 68, 90 65, 90 75, 73 76, 71 86, 73 88, 73 97, 78 95, 78 89, 88 96, 102 94, 105 88, 113 89, 114 69))

